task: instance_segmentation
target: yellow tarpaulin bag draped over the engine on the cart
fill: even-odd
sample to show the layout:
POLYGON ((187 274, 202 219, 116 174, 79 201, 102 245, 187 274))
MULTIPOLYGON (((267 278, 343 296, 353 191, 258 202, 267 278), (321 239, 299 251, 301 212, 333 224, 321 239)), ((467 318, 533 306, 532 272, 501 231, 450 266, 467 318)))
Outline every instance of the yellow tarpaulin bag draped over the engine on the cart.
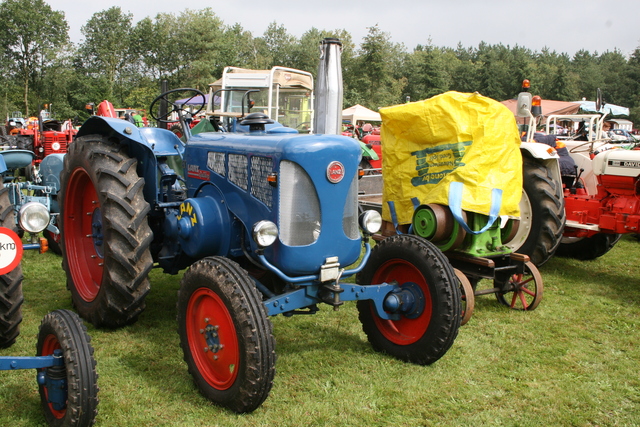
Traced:
POLYGON ((477 93, 446 92, 380 109, 382 217, 409 224, 413 198, 448 205, 449 184, 463 183, 462 209, 488 215, 493 189, 502 190, 500 215, 520 216, 522 156, 513 113, 477 93))

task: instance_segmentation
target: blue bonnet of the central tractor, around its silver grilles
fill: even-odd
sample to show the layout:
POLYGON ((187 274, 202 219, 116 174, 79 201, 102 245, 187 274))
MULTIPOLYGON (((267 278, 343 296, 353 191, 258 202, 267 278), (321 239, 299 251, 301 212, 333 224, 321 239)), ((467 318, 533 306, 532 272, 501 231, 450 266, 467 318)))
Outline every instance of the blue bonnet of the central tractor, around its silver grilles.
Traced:
MULTIPOLYGON (((328 257, 337 256, 346 266, 360 254, 360 239, 349 238, 343 231, 343 212, 359 159, 358 143, 336 135, 201 133, 190 139, 185 153, 187 189, 191 197, 204 183, 213 183, 248 232, 260 220, 280 227, 280 198, 292 195, 280 194, 279 186, 266 183, 266 176, 279 173, 283 160, 300 166, 318 194, 320 235, 304 246, 287 246, 278 240, 265 250, 265 256, 285 274, 316 274, 328 257), (333 161, 345 168, 344 178, 336 184, 327 177, 333 161)), ((257 249, 252 239, 246 240, 257 249)))

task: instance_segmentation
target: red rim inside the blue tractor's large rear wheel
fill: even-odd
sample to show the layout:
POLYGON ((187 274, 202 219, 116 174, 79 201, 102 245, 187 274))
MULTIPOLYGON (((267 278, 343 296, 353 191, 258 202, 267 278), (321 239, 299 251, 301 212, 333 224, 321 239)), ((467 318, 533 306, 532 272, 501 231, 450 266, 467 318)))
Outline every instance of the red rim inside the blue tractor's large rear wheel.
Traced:
POLYGON ((80 297, 93 301, 100 291, 103 273, 102 224, 98 193, 84 169, 76 169, 69 178, 64 201, 64 243, 67 263, 80 297))

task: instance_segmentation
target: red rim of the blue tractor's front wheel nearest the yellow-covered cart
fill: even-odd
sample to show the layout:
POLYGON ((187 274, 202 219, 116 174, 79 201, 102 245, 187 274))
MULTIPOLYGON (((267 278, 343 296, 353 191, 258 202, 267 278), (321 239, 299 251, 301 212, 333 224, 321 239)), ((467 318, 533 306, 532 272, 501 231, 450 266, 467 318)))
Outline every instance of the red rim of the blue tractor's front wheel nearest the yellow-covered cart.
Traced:
POLYGON ((424 311, 415 319, 400 315, 399 320, 381 319, 372 306, 373 318, 382 335, 394 344, 413 344, 422 338, 429 328, 432 314, 431 293, 426 279, 412 263, 402 259, 392 259, 385 262, 376 270, 371 283, 391 283, 397 281, 400 286, 404 283, 415 283, 424 294, 424 311))

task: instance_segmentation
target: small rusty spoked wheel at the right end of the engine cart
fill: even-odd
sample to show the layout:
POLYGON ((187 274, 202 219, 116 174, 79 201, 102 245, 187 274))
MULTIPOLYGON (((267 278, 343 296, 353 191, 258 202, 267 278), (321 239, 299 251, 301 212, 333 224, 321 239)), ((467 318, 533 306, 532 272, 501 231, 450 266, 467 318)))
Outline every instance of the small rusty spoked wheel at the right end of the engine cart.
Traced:
POLYGON ((496 293, 501 304, 514 310, 535 310, 542 300, 542 276, 532 262, 526 262, 524 273, 513 274, 505 289, 508 290, 496 293))

